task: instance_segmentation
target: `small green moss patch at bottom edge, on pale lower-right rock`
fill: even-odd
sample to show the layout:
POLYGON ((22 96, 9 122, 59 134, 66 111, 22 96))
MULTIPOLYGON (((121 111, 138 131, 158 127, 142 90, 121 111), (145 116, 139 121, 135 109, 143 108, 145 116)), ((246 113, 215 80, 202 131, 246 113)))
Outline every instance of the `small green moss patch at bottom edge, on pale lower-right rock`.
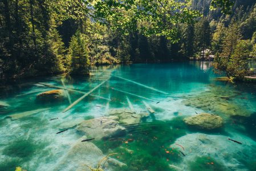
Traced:
POLYGON ((191 171, 198 171, 198 170, 204 170, 204 171, 221 171, 225 170, 224 166, 220 164, 220 162, 217 162, 212 157, 208 156, 202 156, 197 157, 196 160, 190 162, 190 170, 191 171))

